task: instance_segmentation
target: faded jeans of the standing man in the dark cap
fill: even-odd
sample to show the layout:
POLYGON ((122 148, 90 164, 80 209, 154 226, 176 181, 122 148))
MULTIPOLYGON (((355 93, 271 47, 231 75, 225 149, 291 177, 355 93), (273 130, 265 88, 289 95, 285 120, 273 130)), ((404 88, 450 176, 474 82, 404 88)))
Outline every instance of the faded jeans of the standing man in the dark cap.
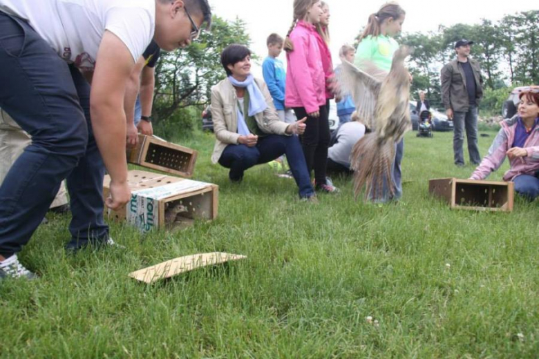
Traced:
POLYGON ((464 128, 466 128, 466 137, 468 140, 468 153, 470 162, 473 164, 481 163, 479 148, 477 148, 477 106, 470 106, 468 112, 453 113, 453 153, 455 154, 455 164, 464 164, 464 128))

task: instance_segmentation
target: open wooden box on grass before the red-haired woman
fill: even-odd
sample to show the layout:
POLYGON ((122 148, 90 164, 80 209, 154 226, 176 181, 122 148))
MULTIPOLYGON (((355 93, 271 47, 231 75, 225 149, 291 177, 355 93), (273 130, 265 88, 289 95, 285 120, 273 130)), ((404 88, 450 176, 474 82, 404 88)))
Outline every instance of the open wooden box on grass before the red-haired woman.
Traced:
POLYGON ((455 209, 513 211, 513 182, 440 178, 428 182, 428 191, 455 209))

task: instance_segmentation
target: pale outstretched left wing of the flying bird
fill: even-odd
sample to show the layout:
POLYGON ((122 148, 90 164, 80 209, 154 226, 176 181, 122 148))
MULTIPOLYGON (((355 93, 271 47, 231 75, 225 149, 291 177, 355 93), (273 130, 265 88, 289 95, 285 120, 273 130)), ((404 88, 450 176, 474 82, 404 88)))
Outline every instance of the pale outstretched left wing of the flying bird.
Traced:
POLYGON ((378 70, 375 66, 372 68, 368 66, 368 71, 363 71, 348 61, 343 61, 341 71, 337 75, 341 93, 352 96, 357 117, 371 129, 375 127, 376 102, 381 81, 386 75, 387 72, 378 70))

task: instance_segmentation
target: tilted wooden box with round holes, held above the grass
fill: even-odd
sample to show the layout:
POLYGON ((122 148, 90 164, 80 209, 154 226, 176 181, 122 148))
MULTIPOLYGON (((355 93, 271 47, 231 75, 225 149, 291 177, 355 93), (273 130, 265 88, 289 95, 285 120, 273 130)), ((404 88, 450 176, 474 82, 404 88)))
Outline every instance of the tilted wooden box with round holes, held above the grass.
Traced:
POLYGON ((157 171, 191 177, 197 151, 157 137, 138 135, 138 145, 127 149, 127 162, 157 171))

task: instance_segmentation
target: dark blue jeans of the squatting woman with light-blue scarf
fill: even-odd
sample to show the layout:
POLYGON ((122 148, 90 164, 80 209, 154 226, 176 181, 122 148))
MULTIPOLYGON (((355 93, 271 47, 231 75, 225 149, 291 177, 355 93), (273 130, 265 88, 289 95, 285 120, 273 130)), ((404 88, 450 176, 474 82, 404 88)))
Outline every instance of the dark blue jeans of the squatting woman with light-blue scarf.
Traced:
POLYGON ((243 173, 256 164, 265 164, 285 154, 292 175, 299 187, 300 197, 314 194, 310 176, 305 164, 305 156, 296 135, 267 135, 258 137, 254 147, 245 144, 229 144, 219 158, 219 164, 230 168, 229 178, 232 181, 243 179, 243 173))

